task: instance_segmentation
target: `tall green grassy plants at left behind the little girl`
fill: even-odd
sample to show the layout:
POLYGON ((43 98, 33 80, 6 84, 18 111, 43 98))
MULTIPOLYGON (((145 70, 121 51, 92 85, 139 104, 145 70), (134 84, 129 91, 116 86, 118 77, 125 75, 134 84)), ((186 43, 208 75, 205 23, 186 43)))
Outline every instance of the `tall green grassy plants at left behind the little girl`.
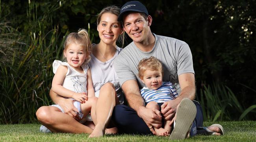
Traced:
MULTIPOLYGON (((42 18, 37 18, 38 7, 32 2, 27 9, 27 32, 15 31, 11 25, 1 29, 4 43, 0 41, 0 51, 3 51, 0 55, 4 56, 0 61, 0 124, 36 122, 37 108, 50 104, 51 65, 54 59, 61 57, 63 37, 60 37, 58 25, 48 31, 54 24, 45 24, 42 18)), ((40 16, 47 17, 58 7, 48 5, 49 11, 40 16)))

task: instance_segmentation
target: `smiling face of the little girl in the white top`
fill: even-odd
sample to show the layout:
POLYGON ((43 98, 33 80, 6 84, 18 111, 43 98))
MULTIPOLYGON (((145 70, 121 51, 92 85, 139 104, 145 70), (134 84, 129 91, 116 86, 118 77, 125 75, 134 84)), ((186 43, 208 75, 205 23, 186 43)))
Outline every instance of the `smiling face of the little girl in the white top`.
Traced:
POLYGON ((67 58, 67 62, 76 70, 81 70, 81 65, 87 58, 87 53, 83 46, 76 43, 70 43, 66 50, 64 50, 64 56, 67 58))

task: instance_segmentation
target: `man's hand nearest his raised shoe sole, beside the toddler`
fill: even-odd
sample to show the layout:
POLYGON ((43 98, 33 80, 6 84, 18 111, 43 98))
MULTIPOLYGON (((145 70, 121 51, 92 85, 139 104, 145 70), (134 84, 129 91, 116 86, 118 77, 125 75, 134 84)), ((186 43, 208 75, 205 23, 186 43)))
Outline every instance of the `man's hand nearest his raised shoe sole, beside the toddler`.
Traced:
POLYGON ((163 117, 165 118, 165 120, 173 119, 179 103, 180 103, 180 101, 175 99, 175 100, 164 102, 161 105, 161 113, 162 113, 163 117))

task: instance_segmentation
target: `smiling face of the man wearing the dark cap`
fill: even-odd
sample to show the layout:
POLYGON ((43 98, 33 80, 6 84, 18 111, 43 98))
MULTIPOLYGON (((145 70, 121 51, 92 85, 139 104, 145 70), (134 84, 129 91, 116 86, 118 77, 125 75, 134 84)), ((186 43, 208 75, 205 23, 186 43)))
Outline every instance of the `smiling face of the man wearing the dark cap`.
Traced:
POLYGON ((150 25, 152 19, 148 16, 147 21, 139 13, 124 14, 124 31, 135 43, 143 43, 150 34, 150 25))

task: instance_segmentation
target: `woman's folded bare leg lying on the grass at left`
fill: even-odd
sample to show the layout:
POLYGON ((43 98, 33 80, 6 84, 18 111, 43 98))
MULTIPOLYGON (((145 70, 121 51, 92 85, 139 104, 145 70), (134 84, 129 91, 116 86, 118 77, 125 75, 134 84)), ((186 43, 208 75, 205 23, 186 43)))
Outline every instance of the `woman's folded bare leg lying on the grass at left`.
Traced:
POLYGON ((91 133, 93 131, 55 106, 42 106, 37 110, 36 115, 38 121, 52 132, 91 133))

